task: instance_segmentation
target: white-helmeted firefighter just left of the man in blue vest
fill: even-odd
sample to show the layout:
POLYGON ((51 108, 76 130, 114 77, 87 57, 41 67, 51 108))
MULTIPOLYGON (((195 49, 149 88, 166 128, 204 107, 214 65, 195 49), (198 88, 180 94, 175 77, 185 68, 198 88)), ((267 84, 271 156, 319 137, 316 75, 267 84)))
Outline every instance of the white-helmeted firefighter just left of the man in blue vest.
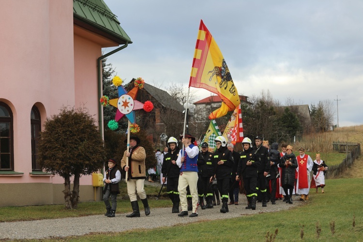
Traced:
POLYGON ((169 147, 168 152, 164 155, 164 162, 161 167, 161 173, 163 174, 162 182, 166 182, 166 193, 173 202, 172 213, 179 212, 179 174, 180 167, 177 165, 177 159, 179 155, 178 140, 174 137, 170 137, 167 140, 167 146, 169 147), (167 177, 166 177, 167 176, 167 177))

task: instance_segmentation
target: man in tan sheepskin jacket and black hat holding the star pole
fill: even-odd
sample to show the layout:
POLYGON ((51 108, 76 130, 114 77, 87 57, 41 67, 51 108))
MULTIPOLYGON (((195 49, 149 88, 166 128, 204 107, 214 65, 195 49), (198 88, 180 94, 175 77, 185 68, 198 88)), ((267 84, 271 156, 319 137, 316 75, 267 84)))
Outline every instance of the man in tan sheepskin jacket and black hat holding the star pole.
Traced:
MULTIPOLYGON (((127 139, 125 140, 125 143, 127 139)), ((130 136, 130 151, 123 153, 121 159, 121 168, 128 172, 127 194, 130 197, 133 212, 126 217, 140 217, 140 212, 137 203, 136 193, 140 197, 145 208, 145 215, 150 214, 148 198, 144 190, 144 181, 146 178, 145 158, 146 152, 144 147, 139 146, 140 139, 136 136, 130 136), (126 157, 129 157, 129 165, 126 166, 126 157)))

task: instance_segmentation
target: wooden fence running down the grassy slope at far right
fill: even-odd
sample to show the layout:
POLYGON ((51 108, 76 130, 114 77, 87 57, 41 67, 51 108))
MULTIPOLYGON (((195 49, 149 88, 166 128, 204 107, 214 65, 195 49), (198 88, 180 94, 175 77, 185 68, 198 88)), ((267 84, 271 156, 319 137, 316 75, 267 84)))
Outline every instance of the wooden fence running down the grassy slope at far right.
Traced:
MULTIPOLYGON (((347 142, 345 142, 347 143, 347 142)), ((357 143, 356 147, 347 154, 347 157, 339 165, 329 166, 325 173, 326 179, 339 178, 341 174, 353 165, 355 159, 361 155, 361 144, 357 143)))

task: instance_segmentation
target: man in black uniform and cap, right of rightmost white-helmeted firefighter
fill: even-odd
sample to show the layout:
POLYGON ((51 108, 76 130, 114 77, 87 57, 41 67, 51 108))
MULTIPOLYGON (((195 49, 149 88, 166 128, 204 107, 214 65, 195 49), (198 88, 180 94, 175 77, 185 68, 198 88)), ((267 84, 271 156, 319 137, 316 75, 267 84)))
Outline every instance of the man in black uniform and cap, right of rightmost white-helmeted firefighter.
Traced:
POLYGON ((267 188, 266 188, 266 176, 270 172, 270 161, 268 160, 268 149, 262 146, 262 138, 257 136, 255 138, 256 146, 253 147, 255 151, 257 151, 257 158, 260 162, 258 166, 258 177, 257 177, 257 187, 259 192, 261 193, 262 198, 262 207, 267 207, 267 188))

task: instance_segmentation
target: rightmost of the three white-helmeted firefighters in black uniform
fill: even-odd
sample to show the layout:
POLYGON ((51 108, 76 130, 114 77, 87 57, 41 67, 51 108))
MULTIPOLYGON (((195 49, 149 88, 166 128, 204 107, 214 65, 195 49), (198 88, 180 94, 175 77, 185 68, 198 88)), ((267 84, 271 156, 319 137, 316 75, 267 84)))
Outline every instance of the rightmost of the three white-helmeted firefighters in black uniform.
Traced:
POLYGON ((242 145, 243 151, 241 152, 240 162, 237 167, 236 180, 239 181, 242 175, 247 197, 246 209, 255 210, 257 200, 257 168, 260 162, 258 159, 255 160, 251 139, 245 137, 242 140, 242 145))

